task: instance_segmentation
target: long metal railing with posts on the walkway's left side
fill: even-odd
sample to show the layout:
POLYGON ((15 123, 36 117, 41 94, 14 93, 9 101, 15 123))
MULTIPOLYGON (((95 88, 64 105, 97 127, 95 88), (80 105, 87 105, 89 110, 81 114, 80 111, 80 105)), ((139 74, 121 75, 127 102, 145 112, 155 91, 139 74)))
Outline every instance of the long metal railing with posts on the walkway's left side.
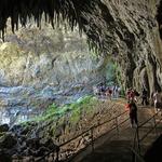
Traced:
MULTIPOLYGON (((92 151, 93 151, 93 150, 94 150, 94 140, 95 140, 96 138, 99 138, 99 137, 104 136, 105 134, 109 134, 109 133, 111 133, 112 131, 116 131, 116 133, 119 135, 120 126, 121 126, 123 123, 125 123, 125 122, 130 119, 130 118, 127 117, 127 118, 124 119, 122 122, 119 121, 119 119, 120 119, 122 116, 124 116, 125 113, 127 113, 127 110, 124 111, 124 112, 122 112, 122 113, 120 113, 119 116, 117 116, 117 117, 110 119, 110 120, 107 120, 107 121, 105 121, 105 122, 97 123, 96 125, 93 125, 92 127, 87 129, 86 131, 84 131, 84 132, 82 132, 81 134, 77 135, 76 137, 71 138, 70 140, 68 140, 68 141, 66 141, 66 143, 64 143, 64 144, 57 146, 55 149, 51 150, 49 153, 44 154, 43 157, 41 157, 41 158, 39 158, 39 159, 37 159, 37 160, 32 160, 32 161, 35 161, 35 162, 41 162, 41 161, 43 161, 43 162, 44 162, 44 161, 48 161, 49 159, 51 159, 51 160, 54 161, 54 162, 59 162, 59 161, 63 160, 63 159, 65 160, 65 159, 66 159, 66 156, 65 156, 65 154, 66 154, 68 151, 72 151, 72 150, 66 150, 66 149, 65 149, 64 152, 63 152, 63 151, 60 151, 62 148, 63 148, 64 146, 70 144, 71 141, 75 141, 75 140, 78 139, 78 138, 83 139, 83 138, 85 137, 85 135, 89 136, 89 138, 86 139, 87 145, 85 145, 82 149, 86 148, 87 146, 91 146, 91 147, 92 147, 92 151), (96 134, 97 134, 96 132, 99 132, 98 129, 102 130, 102 127, 105 127, 105 126, 104 126, 105 124, 110 123, 110 122, 112 122, 111 129, 105 131, 104 133, 102 133, 102 131, 100 131, 100 133, 98 133, 99 135, 97 136, 97 135, 96 135, 96 134), (64 154, 64 156, 63 156, 63 154, 64 154)), ((87 136, 86 136, 86 137, 87 137, 87 136)), ((71 152, 71 154, 70 154, 69 157, 68 157, 68 156, 67 156, 67 157, 68 157, 68 158, 71 158, 71 157, 73 157, 73 156, 75 156, 77 152, 79 152, 79 151, 80 151, 80 149, 77 150, 76 152, 71 152)))

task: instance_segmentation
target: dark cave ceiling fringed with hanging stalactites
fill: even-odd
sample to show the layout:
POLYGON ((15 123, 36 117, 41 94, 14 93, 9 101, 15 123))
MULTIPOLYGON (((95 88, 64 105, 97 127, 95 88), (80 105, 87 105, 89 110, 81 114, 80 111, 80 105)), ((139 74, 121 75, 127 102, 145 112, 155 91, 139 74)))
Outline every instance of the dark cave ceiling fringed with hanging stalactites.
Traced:
MULTIPOLYGON (((53 28, 56 24, 67 22, 73 29, 78 26, 80 32, 85 32, 90 49, 99 53, 106 53, 108 45, 113 43, 107 30, 116 30, 116 22, 106 3, 109 0, 1 0, 0 1, 0 36, 4 40, 8 28, 8 18, 11 18, 12 31, 18 29, 18 25, 26 26, 28 19, 35 19, 41 28, 41 19, 44 16, 53 28)), ((162 2, 160 6, 162 5, 162 2)), ((157 19, 159 28, 162 24, 162 12, 159 6, 157 19)))

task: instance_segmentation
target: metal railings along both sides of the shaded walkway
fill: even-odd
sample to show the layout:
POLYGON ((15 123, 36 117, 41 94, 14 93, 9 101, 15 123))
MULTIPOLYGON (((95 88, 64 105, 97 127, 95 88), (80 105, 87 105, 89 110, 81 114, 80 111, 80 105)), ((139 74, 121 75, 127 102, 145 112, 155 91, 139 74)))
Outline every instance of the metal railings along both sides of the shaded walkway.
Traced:
MULTIPOLYGON (((146 137, 147 137, 150 133, 152 133, 153 130, 156 131, 156 135, 158 136, 157 125, 159 125, 159 123, 162 121, 162 118, 159 119, 159 122, 157 122, 157 120, 156 120, 156 117, 159 114, 159 112, 160 112, 160 111, 158 111, 157 113, 154 113, 151 118, 149 118, 148 120, 146 120, 145 122, 143 122, 141 124, 139 124, 139 125, 136 127, 135 136, 134 136, 134 145, 133 145, 133 148, 130 148, 130 150, 131 150, 132 153, 133 153, 133 156, 132 156, 132 157, 133 157, 133 159, 132 159, 133 162, 137 162, 137 161, 144 162, 144 159, 143 159, 143 157, 141 157, 141 154, 140 154, 140 144, 141 144, 141 141, 143 141, 144 139, 146 139, 146 137), (150 121, 153 121, 153 122, 152 122, 152 123, 153 123, 153 126, 150 127, 150 129, 146 132, 146 134, 143 135, 143 137, 139 137, 139 130, 143 129, 144 125, 146 125, 146 124, 149 123, 150 121), (136 148, 136 145, 137 145, 137 148, 136 148)), ((87 144, 85 147, 91 146, 92 151, 94 151, 94 149, 95 149, 94 143, 95 143, 95 139, 96 139, 96 138, 99 138, 99 137, 104 136, 105 134, 109 134, 109 133, 111 133, 112 131, 116 131, 117 135, 119 135, 119 133, 120 133, 120 126, 121 126, 123 123, 125 123, 125 122, 130 119, 130 118, 126 118, 126 119, 124 119, 122 122, 119 122, 119 118, 122 117, 122 116, 124 116, 125 113, 127 113, 127 111, 124 111, 124 112, 120 113, 119 116, 117 116, 117 117, 114 117, 114 118, 112 118, 112 119, 110 119, 110 120, 107 120, 107 121, 105 121, 105 122, 100 122, 100 123, 98 123, 98 124, 96 124, 96 125, 94 125, 94 126, 87 129, 86 131, 82 132, 81 134, 77 135, 76 137, 71 138, 70 140, 68 140, 68 141, 66 141, 66 143, 59 145, 57 148, 55 148, 54 150, 50 151, 48 154, 44 154, 43 157, 41 157, 40 159, 37 159, 37 160, 35 160, 35 161, 36 161, 36 162, 48 161, 49 158, 52 158, 53 161, 59 162, 60 160, 63 160, 63 159, 65 158, 65 157, 62 157, 62 153, 63 153, 63 152, 60 152, 62 147, 66 146, 67 144, 70 144, 71 141, 78 139, 79 137, 82 138, 82 137, 84 136, 84 134, 89 134, 89 136, 90 136, 90 138, 89 138, 89 144, 87 144), (95 133, 94 133, 95 130, 97 130, 97 129, 102 127, 103 125, 105 125, 105 124, 107 124, 107 123, 110 123, 110 122, 112 122, 112 121, 114 121, 114 122, 113 122, 113 124, 111 125, 111 129, 109 129, 108 131, 106 131, 106 132, 103 133, 103 134, 99 134, 99 136, 97 136, 97 137, 95 136, 95 133), (63 158, 63 159, 62 159, 62 158, 63 158)), ((85 148, 85 147, 84 147, 84 148, 85 148)), ((83 148, 83 149, 84 149, 84 148, 83 148)), ((66 151, 67 151, 67 150, 65 150, 65 152, 66 152, 66 151)), ((79 150, 78 150, 77 152, 79 152, 79 150)), ((71 156, 68 157, 68 158, 73 157, 77 152, 71 153, 71 156)), ((65 159, 64 159, 64 160, 65 160, 65 159)))

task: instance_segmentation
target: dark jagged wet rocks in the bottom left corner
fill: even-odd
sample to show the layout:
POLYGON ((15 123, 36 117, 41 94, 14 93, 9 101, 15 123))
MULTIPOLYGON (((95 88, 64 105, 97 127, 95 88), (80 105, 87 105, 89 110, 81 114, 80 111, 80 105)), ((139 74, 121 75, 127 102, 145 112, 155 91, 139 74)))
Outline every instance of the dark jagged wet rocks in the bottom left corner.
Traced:
MULTIPOLYGON (((0 160, 2 162, 10 162, 13 157, 42 157, 57 147, 51 137, 32 137, 31 132, 35 126, 36 124, 31 124, 28 127, 14 125, 10 129, 10 132, 1 132, 0 160)), ((35 133, 37 134, 37 131, 35 133)))

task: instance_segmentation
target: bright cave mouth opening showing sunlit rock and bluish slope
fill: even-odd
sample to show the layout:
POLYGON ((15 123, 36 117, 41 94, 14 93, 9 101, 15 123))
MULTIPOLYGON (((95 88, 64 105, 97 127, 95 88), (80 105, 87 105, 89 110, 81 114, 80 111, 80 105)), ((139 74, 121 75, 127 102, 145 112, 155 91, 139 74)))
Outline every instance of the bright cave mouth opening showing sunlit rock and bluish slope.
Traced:
POLYGON ((43 22, 39 29, 31 22, 15 33, 10 25, 8 28, 5 42, 0 43, 1 124, 29 121, 53 103, 75 103, 92 95, 93 85, 102 82, 118 84, 117 65, 90 50, 78 27, 73 31, 64 25, 53 29, 43 22))

